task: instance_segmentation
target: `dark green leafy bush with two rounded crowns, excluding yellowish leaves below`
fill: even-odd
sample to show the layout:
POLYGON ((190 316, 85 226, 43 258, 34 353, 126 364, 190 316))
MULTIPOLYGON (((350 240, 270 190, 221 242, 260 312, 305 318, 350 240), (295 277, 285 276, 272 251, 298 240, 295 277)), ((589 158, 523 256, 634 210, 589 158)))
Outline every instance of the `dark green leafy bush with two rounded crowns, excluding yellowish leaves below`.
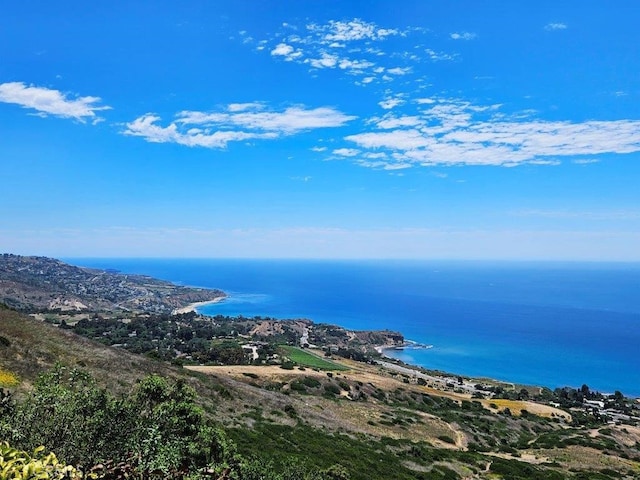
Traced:
POLYGON ((91 466, 126 460, 137 471, 174 474, 229 461, 233 452, 207 425, 183 382, 142 380, 126 398, 96 386, 85 372, 57 367, 7 417, 3 435, 32 450, 46 445, 67 463, 91 466))

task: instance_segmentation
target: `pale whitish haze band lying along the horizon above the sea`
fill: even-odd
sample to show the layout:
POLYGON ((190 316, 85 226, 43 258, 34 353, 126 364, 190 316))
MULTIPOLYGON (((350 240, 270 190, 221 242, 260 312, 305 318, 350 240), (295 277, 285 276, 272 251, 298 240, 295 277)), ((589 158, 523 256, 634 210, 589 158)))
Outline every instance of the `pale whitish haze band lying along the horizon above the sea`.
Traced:
POLYGON ((247 258, 447 258, 521 260, 638 261, 637 230, 532 230, 474 228, 341 228, 281 226, 5 230, 0 242, 9 251, 42 251, 58 257, 95 255, 171 257, 175 246, 193 258, 214 250, 221 257, 247 258), (610 248, 603 249, 602 245, 610 248), (337 256, 336 256, 337 255, 337 256))

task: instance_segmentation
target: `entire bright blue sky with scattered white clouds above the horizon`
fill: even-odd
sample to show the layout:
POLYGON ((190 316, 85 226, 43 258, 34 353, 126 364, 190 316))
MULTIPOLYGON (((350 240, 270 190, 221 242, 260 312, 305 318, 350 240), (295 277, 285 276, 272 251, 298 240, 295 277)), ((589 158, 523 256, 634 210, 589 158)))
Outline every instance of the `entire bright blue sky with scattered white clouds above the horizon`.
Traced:
POLYGON ((640 6, 5 2, 0 250, 640 260, 640 6))

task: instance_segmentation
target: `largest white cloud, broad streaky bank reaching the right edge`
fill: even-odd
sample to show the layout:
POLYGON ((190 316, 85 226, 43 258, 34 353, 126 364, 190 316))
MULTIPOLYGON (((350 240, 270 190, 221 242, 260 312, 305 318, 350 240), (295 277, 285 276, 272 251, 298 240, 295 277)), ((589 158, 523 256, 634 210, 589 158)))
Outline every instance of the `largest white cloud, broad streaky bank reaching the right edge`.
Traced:
MULTIPOLYGON (((397 100, 380 105, 392 108, 397 100)), ((420 100, 429 108, 414 115, 373 118, 367 122, 375 125, 373 131, 345 139, 365 152, 386 153, 394 163, 423 166, 558 165, 564 158, 640 152, 638 120, 551 122, 500 115, 500 105, 420 100)))

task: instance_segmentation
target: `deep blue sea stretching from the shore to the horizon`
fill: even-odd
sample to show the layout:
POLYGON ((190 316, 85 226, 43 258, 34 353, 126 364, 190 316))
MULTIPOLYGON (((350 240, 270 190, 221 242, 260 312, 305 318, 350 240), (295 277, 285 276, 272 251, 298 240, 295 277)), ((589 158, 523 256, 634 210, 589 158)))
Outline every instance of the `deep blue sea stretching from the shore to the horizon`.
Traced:
POLYGON ((203 314, 392 329, 462 375, 640 396, 640 264, 66 259, 230 296, 203 314))

